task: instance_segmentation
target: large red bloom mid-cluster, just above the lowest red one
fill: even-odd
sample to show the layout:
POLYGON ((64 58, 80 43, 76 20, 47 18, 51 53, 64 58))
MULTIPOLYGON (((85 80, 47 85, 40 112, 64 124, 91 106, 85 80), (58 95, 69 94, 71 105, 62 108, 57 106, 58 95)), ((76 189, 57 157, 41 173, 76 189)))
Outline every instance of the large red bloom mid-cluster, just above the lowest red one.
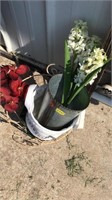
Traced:
POLYGON ((12 80, 9 86, 14 96, 22 97, 24 94, 24 88, 27 86, 27 84, 22 82, 21 79, 18 79, 12 80))

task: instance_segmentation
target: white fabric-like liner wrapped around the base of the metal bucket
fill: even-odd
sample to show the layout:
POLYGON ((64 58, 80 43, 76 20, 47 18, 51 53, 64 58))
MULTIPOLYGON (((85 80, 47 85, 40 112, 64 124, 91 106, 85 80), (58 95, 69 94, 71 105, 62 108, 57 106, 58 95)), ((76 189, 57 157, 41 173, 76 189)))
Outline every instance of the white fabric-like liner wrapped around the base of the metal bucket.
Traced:
POLYGON ((72 130, 73 128, 83 128, 84 125, 84 116, 85 111, 82 111, 76 119, 74 119, 73 123, 64 129, 61 129, 59 131, 53 131, 50 129, 45 128, 39 122, 35 119, 33 115, 34 108, 34 96, 36 95, 38 98, 38 95, 40 95, 40 92, 44 90, 46 85, 43 85, 39 87, 36 84, 32 84, 28 88, 28 92, 25 98, 25 106, 28 110, 26 114, 26 124, 30 132, 37 138, 41 140, 53 140, 58 138, 59 136, 63 135, 64 133, 72 130))

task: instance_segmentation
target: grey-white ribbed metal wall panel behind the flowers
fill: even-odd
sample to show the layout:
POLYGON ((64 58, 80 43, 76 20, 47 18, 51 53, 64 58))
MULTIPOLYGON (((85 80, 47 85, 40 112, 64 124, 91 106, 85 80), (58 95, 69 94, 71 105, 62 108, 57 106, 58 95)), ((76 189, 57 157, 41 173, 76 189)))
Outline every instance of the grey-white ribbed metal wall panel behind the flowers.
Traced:
POLYGON ((64 40, 74 20, 86 20, 90 33, 104 39, 111 24, 111 1, 2 1, 1 14, 12 50, 63 64, 64 40))

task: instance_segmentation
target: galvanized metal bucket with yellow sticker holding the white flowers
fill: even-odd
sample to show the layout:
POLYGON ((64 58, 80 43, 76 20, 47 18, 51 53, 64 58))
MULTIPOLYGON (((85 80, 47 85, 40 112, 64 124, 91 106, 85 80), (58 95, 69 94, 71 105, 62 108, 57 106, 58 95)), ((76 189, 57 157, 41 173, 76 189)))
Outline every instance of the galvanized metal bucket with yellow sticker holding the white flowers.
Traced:
POLYGON ((69 126, 89 104, 88 93, 86 89, 83 89, 69 107, 64 107, 59 103, 61 101, 62 90, 63 75, 58 74, 53 76, 46 88, 39 109, 37 113, 34 114, 41 125, 51 130, 61 130, 69 126), (76 104, 78 110, 75 109, 76 104))

